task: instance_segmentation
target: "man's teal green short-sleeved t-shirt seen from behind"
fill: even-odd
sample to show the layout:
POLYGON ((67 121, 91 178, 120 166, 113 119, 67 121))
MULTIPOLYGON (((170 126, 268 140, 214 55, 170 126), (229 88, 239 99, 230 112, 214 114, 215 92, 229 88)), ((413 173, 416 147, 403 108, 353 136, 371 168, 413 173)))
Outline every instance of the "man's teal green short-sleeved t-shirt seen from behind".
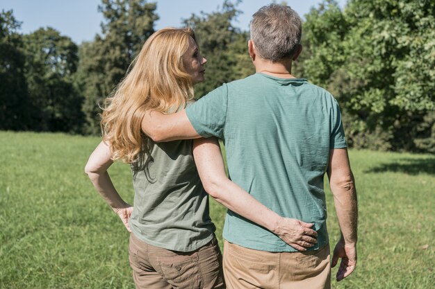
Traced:
MULTIPOLYGON (((224 139, 230 179, 281 216, 315 224, 328 243, 323 178, 331 148, 345 148, 340 109, 304 78, 256 73, 218 87, 186 109, 202 137, 224 139)), ((224 238, 243 247, 294 252, 278 236, 231 210, 224 238)))

